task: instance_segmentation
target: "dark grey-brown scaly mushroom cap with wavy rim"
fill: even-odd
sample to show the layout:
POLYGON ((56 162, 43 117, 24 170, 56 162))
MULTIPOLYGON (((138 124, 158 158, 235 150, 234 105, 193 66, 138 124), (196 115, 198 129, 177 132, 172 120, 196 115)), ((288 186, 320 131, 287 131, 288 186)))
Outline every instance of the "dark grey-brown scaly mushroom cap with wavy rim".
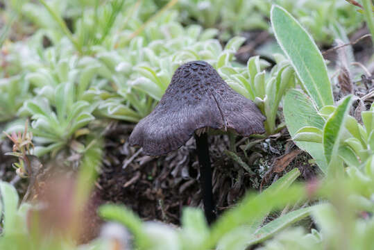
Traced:
POLYGON ((211 65, 192 61, 176 69, 158 106, 135 126, 129 142, 160 156, 181 147, 199 128, 233 129, 248 136, 264 133, 265 119, 211 65))

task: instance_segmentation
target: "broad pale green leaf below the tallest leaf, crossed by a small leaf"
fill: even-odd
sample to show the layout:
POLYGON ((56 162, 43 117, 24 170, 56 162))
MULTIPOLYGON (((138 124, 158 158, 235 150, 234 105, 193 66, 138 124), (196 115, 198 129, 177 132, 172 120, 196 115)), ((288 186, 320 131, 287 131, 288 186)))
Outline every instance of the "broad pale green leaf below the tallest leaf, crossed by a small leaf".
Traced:
MULTIPOLYGON (((296 132, 305 126, 314 126, 323 129, 325 120, 318 115, 312 101, 298 90, 289 90, 283 101, 283 114, 287 124, 287 129, 291 138, 296 136, 296 132)), ((309 153, 318 167, 326 173, 328 165, 321 150, 321 144, 315 142, 295 142, 296 145, 309 153)))

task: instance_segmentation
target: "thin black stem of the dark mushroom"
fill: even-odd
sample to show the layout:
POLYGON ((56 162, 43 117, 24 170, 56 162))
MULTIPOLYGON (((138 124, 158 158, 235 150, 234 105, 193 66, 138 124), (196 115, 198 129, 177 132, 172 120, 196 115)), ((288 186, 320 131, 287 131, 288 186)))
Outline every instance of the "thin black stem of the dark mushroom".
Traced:
POLYGON ((198 163, 200 165, 200 185, 203 192, 203 203, 205 217, 208 224, 212 224, 216 219, 215 204, 212 192, 212 169, 210 167, 209 148, 207 143, 207 133, 200 136, 195 135, 196 151, 198 163))

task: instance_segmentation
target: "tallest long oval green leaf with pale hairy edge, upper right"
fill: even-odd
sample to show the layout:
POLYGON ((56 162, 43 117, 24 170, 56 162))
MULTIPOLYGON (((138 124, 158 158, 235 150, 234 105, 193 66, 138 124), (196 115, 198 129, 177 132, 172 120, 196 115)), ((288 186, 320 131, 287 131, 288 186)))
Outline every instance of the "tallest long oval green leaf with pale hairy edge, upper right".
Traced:
POLYGON ((316 107, 333 105, 327 67, 312 37, 287 10, 279 6, 271 8, 271 24, 278 44, 316 107))

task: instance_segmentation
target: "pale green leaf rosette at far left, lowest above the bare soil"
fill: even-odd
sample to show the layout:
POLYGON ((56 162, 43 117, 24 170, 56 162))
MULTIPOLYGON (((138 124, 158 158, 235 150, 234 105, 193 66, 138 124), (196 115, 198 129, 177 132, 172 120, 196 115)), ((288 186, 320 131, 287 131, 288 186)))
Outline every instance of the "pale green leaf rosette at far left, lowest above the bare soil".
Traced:
POLYGON ((67 145, 79 153, 83 146, 74 139, 90 133, 84 127, 94 120, 94 108, 87 101, 76 99, 76 86, 71 81, 58 84, 52 100, 35 97, 26 101, 19 113, 31 115, 35 155, 55 155, 67 145))

